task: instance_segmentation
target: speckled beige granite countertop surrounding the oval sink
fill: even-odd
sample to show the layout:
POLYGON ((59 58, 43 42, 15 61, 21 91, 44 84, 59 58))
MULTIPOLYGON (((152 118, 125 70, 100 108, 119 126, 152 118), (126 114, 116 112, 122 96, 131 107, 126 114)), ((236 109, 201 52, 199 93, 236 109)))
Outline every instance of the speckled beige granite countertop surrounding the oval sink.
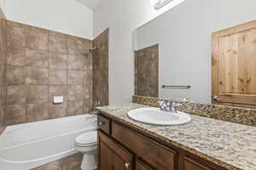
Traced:
POLYGON ((185 125, 155 126, 132 121, 127 116, 128 111, 143 107, 148 106, 125 104, 97 109, 221 167, 256 170, 256 127, 194 115, 185 125))

